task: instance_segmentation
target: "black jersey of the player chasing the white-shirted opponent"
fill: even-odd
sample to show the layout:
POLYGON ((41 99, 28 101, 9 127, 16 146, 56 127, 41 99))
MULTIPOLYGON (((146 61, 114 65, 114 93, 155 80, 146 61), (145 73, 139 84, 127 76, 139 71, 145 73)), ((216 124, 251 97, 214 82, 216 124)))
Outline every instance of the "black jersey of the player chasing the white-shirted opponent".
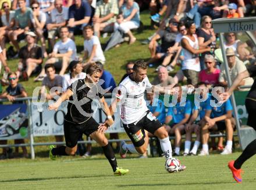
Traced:
POLYGON ((73 95, 69 98, 65 120, 78 124, 84 123, 93 116, 91 102, 93 99, 101 99, 104 92, 98 84, 88 87, 84 79, 75 81, 67 89, 72 90, 73 95))

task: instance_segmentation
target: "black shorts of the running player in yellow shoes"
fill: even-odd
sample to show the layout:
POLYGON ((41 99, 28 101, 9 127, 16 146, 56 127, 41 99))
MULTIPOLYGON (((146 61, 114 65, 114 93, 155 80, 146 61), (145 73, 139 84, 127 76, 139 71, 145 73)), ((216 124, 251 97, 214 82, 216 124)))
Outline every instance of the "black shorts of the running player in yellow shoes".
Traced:
POLYGON ((78 139, 83 135, 90 135, 94 131, 98 130, 99 124, 90 117, 87 121, 81 124, 73 123, 64 120, 64 135, 66 140, 66 146, 73 148, 77 145, 78 139))

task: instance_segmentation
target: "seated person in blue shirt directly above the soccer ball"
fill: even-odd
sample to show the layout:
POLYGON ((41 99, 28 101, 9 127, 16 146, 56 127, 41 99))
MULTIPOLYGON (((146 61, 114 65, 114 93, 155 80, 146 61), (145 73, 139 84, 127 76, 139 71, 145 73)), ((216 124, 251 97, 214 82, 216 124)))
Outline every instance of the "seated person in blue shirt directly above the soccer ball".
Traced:
POLYGON ((179 156, 180 145, 182 143, 182 134, 185 132, 185 125, 189 121, 190 114, 192 112, 191 102, 181 102, 182 98, 182 87, 176 84, 174 86, 179 91, 177 97, 177 103, 173 107, 168 107, 168 113, 165 118, 166 130, 170 135, 175 134, 175 153, 174 155, 179 156), (184 104, 184 105, 183 105, 184 104), (168 126, 170 121, 172 125, 168 126))

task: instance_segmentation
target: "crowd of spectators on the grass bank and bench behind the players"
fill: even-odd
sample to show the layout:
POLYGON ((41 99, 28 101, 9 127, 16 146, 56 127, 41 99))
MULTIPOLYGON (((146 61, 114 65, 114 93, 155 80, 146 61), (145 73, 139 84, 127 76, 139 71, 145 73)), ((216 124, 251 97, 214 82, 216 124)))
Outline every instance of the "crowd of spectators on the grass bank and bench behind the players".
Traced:
MULTIPOLYGON (((253 15, 255 1, 3 0, 0 1, 0 65, 5 74, 1 81, 10 87, 1 94, 1 98, 13 101, 13 96, 27 96, 20 85, 20 94, 11 95, 8 90, 13 88, 14 80, 31 80, 30 76, 34 74, 37 75, 34 81, 42 81, 41 94, 52 99, 54 95, 66 91, 74 81, 84 78, 86 74, 83 69, 91 62, 97 62, 102 67, 101 78, 105 81, 102 88, 111 87, 108 92, 112 92, 116 82, 113 73, 103 69, 108 62, 100 37, 105 38, 108 34, 120 31, 123 37, 129 38, 129 44, 133 44, 136 42, 133 30, 143 26, 140 20, 140 10, 143 9, 150 10, 151 27, 155 28, 155 33, 142 42, 148 44, 150 51, 148 66, 157 64, 157 75, 152 84, 175 87, 180 91, 183 89, 180 84, 189 87, 227 87, 223 58, 218 49, 219 37, 212 28, 212 19, 253 15), (76 35, 84 37, 82 56, 77 52, 76 35), (26 45, 20 47, 22 41, 26 45), (6 45, 8 43, 10 47, 6 45), (16 58, 19 58, 17 69, 10 72, 8 60, 16 58), (45 93, 45 89, 49 91, 52 87, 62 90, 56 88, 45 93)), ((234 80, 237 74, 246 70, 246 64, 255 63, 255 47, 250 41, 241 42, 236 33, 225 34, 224 46, 229 73, 234 80)), ((128 62, 123 78, 129 76, 132 68, 133 62, 128 62)), ((246 78, 240 86, 251 84, 253 78, 246 78)), ((161 118, 169 134, 175 136, 175 154, 180 154, 181 137, 186 133, 184 155, 196 155, 201 142, 200 155, 208 155, 209 131, 214 130, 226 130, 227 144, 222 153, 231 153, 234 122, 230 102, 223 105, 221 110, 209 107, 207 102, 193 107, 187 101, 184 107, 180 106, 180 95, 177 105, 169 107, 166 112, 161 110, 162 102, 155 100, 153 94, 147 97, 151 102, 151 112, 161 118), (158 102, 158 108, 152 107, 153 102, 158 102), (200 120, 196 120, 198 116, 200 120), (193 132, 197 138, 190 151, 193 132)), ((211 98, 209 95, 208 99, 211 98)), ((118 138, 118 134, 112 134, 111 138, 118 138)), ((56 141, 63 141, 63 137, 56 136, 56 141)), ((87 150, 90 149, 89 145, 87 150)), ((24 149, 23 154, 27 156, 24 149)), ((87 155, 90 155, 90 151, 87 151, 87 155)))

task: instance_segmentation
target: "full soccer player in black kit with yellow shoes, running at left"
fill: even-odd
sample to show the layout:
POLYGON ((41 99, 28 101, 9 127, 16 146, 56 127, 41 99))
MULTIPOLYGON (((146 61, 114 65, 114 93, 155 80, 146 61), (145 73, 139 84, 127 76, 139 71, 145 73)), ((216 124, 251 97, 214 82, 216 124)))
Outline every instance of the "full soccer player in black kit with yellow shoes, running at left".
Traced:
POLYGON ((66 146, 54 148, 51 145, 49 157, 56 160, 56 156, 75 155, 77 150, 77 141, 83 134, 90 136, 100 146, 102 146, 104 155, 108 159, 113 169, 114 175, 124 175, 129 170, 121 169, 116 162, 115 154, 111 145, 108 144, 104 131, 113 124, 113 119, 104 99, 104 89, 98 84, 101 77, 101 69, 96 63, 91 63, 86 70, 86 78, 77 80, 55 103, 49 105, 49 110, 57 110, 62 102, 69 100, 67 105, 67 114, 64 119, 64 135, 66 146), (91 102, 98 99, 107 118, 104 124, 99 125, 93 119, 93 110, 91 102))

